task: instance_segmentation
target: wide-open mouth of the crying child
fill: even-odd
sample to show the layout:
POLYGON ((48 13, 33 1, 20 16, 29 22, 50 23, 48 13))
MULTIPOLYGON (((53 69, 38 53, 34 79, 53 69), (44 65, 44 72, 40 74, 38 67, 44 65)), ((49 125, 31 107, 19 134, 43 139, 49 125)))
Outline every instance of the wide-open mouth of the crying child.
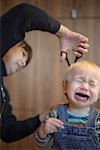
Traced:
POLYGON ((78 101, 86 102, 89 99, 89 95, 83 93, 76 93, 75 99, 78 101))

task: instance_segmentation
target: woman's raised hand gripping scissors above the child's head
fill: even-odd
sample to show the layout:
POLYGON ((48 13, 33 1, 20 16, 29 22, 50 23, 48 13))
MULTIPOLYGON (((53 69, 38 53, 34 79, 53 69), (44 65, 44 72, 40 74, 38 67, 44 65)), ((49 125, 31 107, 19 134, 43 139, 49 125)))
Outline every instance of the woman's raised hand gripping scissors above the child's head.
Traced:
MULTIPOLYGON (((68 50, 73 50, 73 53, 76 56, 80 56, 80 53, 84 54, 88 52, 88 38, 82 34, 73 32, 67 27, 61 25, 56 35, 60 40, 60 51, 67 52, 68 50)), ((65 60, 65 58, 66 54, 62 53, 61 62, 65 60)))

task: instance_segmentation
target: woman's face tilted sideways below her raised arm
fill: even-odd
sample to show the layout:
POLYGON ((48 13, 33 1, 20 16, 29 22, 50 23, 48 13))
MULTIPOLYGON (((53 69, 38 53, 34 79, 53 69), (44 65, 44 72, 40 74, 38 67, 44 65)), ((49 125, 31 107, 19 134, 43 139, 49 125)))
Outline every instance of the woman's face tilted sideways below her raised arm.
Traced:
POLYGON ((13 74, 26 66, 28 52, 21 46, 11 48, 3 58, 7 75, 13 74))

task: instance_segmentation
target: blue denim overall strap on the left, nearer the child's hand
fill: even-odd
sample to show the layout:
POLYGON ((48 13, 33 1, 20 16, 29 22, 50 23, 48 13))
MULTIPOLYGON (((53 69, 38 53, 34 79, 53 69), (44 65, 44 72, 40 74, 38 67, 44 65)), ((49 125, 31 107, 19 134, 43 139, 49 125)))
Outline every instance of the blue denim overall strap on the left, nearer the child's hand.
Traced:
POLYGON ((68 113, 67 113, 67 105, 61 104, 57 107, 57 112, 59 115, 59 119, 63 121, 64 124, 68 122, 68 113))

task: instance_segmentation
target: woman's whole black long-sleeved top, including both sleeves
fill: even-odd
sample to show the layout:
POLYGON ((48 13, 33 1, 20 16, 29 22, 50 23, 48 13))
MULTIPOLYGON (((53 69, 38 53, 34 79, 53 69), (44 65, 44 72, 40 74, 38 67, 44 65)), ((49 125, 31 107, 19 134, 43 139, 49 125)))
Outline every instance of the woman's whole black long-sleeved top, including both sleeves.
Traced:
MULTIPOLYGON (((29 118, 23 121, 18 121, 12 114, 12 108, 9 104, 10 97, 6 88, 3 85, 3 76, 6 75, 4 63, 2 61, 3 56, 7 51, 19 41, 25 37, 25 32, 32 30, 47 31, 50 33, 56 33, 60 28, 60 23, 56 21, 48 14, 30 4, 19 4, 12 8, 6 14, 0 18, 0 68, 1 68, 1 110, 4 109, 1 114, 1 134, 0 137, 5 142, 13 142, 30 135, 40 125, 39 115, 29 118), (5 98, 3 96, 5 94, 5 98), (6 102, 4 102, 6 99, 6 102)), ((0 112, 1 112, 0 110, 0 112)))

